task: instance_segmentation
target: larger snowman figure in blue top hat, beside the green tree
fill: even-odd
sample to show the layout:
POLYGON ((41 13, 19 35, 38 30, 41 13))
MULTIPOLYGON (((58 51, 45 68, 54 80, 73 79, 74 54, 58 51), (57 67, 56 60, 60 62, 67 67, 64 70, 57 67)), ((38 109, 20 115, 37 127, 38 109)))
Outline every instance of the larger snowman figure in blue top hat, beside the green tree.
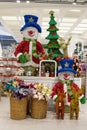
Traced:
POLYGON ((20 29, 23 41, 18 44, 14 54, 20 63, 32 61, 32 63, 39 64, 45 52, 42 44, 37 41, 38 33, 41 33, 41 27, 37 23, 38 17, 25 15, 24 19, 25 25, 20 29))

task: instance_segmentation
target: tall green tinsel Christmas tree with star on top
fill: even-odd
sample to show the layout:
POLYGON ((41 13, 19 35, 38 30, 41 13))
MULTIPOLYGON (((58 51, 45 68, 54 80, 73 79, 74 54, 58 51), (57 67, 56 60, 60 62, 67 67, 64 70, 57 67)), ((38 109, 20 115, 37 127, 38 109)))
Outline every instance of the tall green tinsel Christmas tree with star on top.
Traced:
POLYGON ((47 40, 49 40, 48 44, 45 46, 46 49, 48 49, 48 55, 52 55, 50 59, 56 60, 57 57, 63 57, 63 54, 61 53, 60 45, 58 43, 59 35, 57 34, 57 31, 59 30, 56 27, 57 22, 55 21, 54 12, 50 11, 50 21, 49 21, 49 28, 47 31, 49 31, 48 36, 46 37, 47 40))

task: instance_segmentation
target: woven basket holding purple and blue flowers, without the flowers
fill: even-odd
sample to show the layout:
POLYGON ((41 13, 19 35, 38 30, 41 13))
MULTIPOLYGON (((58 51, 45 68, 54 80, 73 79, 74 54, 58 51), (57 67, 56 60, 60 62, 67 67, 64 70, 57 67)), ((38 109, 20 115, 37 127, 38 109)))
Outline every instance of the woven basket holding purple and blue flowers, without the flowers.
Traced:
POLYGON ((10 98, 10 118, 15 120, 25 119, 27 115, 27 97, 18 99, 10 98))

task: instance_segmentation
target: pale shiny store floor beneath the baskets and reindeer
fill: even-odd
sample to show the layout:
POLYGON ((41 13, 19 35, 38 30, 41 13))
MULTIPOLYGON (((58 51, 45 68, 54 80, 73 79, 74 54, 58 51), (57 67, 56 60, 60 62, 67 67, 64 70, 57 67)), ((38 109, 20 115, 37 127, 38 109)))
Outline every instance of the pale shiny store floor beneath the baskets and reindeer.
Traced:
POLYGON ((79 120, 70 120, 65 113, 64 120, 58 120, 55 113, 47 112, 45 119, 12 120, 9 115, 9 98, 3 97, 0 102, 0 130, 87 130, 87 103, 80 105, 79 120))

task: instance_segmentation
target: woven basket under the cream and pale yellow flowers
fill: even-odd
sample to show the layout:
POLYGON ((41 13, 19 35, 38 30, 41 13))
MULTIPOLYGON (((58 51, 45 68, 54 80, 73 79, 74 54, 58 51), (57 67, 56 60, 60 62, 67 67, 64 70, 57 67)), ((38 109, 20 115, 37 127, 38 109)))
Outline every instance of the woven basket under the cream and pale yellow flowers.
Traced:
POLYGON ((31 117, 35 119, 46 118, 47 114, 47 101, 38 100, 37 98, 31 99, 31 117))

